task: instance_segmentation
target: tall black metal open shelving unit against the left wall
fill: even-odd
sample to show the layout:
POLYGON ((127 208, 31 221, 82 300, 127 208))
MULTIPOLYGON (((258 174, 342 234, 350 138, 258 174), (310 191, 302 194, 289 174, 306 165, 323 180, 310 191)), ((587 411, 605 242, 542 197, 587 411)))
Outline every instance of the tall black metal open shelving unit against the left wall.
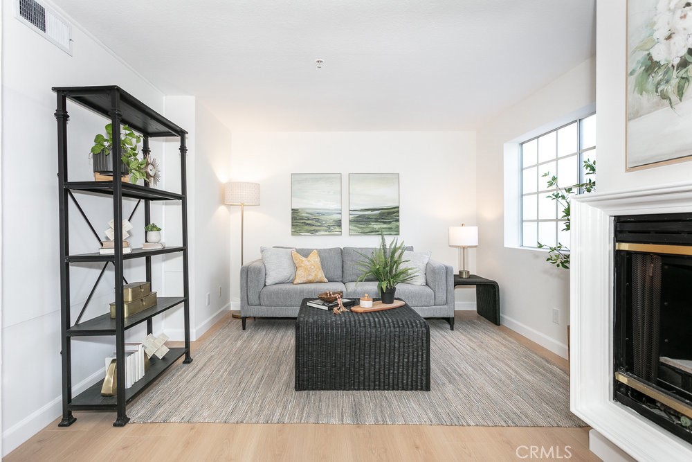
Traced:
MULTIPOLYGON (((77 420, 72 412, 75 410, 116 411, 117 416, 113 426, 122 427, 127 424, 127 403, 144 391, 156 377, 164 373, 178 359, 185 357, 183 363, 192 362, 190 357, 190 295, 188 286, 188 207, 185 188, 185 134, 187 132, 167 118, 161 116, 153 109, 147 107, 126 91, 116 86, 106 87, 55 87, 57 94, 57 151, 58 151, 58 186, 60 189, 60 305, 62 327, 62 420, 58 425, 67 427, 77 420), (162 137, 177 137, 180 139, 181 161, 181 193, 159 190, 150 187, 147 182, 144 186, 127 184, 120 181, 121 163, 113 162, 113 181, 68 181, 67 172, 67 111, 68 101, 91 109, 96 114, 104 116, 111 121, 113 139, 120 139, 121 125, 129 125, 133 130, 143 136, 143 152, 149 154, 149 139, 162 137), (91 232, 100 241, 98 233, 93 229, 88 217, 82 210, 75 194, 82 193, 110 197, 112 199, 113 217, 116 223, 122 222, 122 199, 136 199, 133 215, 139 204, 144 202, 145 222, 150 222, 152 201, 179 201, 182 213, 183 244, 179 247, 165 247, 157 250, 133 249, 131 254, 122 254, 122 247, 116 246, 113 255, 96 254, 70 254, 69 243, 69 202, 73 201, 78 211, 89 224, 91 232), (179 253, 183 256, 183 296, 160 297, 158 303, 133 316, 125 318, 122 309, 123 260, 131 258, 145 258, 145 271, 147 281, 152 281, 152 256, 162 254, 179 253), (103 267, 96 278, 91 294, 84 303, 82 312, 73 322, 71 314, 70 296, 70 265, 72 263, 102 262, 103 267), (95 291, 108 265, 115 268, 115 294, 116 318, 111 319, 110 313, 102 314, 93 319, 82 321, 84 310, 91 301, 95 291), (135 382, 129 389, 125 389, 125 331, 140 323, 147 323, 147 332, 152 333, 152 319, 171 308, 183 305, 185 343, 183 348, 171 348, 163 357, 150 359, 149 370, 145 376, 135 382), (77 396, 72 395, 72 358, 71 339, 80 336, 114 336, 116 342, 116 396, 101 396, 101 381, 96 382, 77 396)), ((113 144, 113 159, 120 159, 120 143, 113 144)), ((131 217, 130 217, 131 218, 131 217)), ((115 226, 116 242, 122 240, 122 227, 115 226)))

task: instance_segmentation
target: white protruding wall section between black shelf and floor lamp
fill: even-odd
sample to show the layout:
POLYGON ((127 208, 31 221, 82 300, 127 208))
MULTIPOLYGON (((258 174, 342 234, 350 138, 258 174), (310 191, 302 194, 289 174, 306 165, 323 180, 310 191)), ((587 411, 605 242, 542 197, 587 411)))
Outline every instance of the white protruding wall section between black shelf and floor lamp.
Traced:
MULTIPOLYGON (((165 113, 188 130, 185 159, 188 192, 188 255, 190 284, 190 337, 199 338, 230 308, 229 212, 221 198, 223 179, 228 172, 230 132, 197 104, 194 96, 166 96, 165 113), (219 296, 219 287, 221 295, 219 296), (209 305, 206 297, 209 294, 209 305)), ((180 181, 180 156, 177 141, 166 143, 164 172, 171 189, 180 181)), ((167 242, 181 244, 181 210, 178 204, 165 207, 163 226, 167 242)), ((167 256, 164 287, 170 294, 181 294, 183 261, 167 256)), ((171 339, 183 339, 181 308, 165 314, 165 332, 171 339)))

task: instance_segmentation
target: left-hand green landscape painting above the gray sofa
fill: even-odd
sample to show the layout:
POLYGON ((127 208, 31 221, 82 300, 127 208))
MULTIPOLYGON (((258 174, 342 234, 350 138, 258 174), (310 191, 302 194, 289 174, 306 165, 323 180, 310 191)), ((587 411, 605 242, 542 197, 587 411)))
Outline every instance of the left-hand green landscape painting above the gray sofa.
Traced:
POLYGON ((341 174, 291 175, 291 234, 341 234, 341 174))

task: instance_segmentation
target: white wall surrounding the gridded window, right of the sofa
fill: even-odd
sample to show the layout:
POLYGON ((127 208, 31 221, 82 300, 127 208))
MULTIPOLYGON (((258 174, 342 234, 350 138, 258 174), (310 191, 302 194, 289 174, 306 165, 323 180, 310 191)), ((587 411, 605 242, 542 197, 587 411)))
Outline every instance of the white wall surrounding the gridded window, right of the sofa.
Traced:
POLYGON ((504 203, 504 144, 567 122, 594 102, 595 91, 595 61, 588 60, 493 118, 477 135, 479 274, 500 285, 503 324, 564 357, 570 274, 546 263, 545 251, 504 247, 504 214, 516 208, 504 203), (559 324, 552 323, 553 308, 560 310, 559 324))

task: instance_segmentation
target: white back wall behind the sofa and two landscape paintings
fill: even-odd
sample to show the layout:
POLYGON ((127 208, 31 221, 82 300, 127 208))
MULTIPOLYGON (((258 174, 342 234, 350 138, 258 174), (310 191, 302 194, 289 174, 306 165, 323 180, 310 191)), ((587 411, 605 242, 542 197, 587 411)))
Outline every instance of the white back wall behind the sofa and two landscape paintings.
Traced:
MULTIPOLYGON (((417 250, 457 267, 448 226, 475 224, 473 132, 234 133, 230 180, 260 183, 261 205, 245 208, 245 261, 260 246, 376 246, 379 236, 348 234, 348 174, 399 173, 401 236, 417 250), (341 173, 342 236, 291 236, 291 173, 341 173)), ((232 208, 231 290, 239 300, 240 212, 232 208)), ((471 269, 475 269, 473 249, 471 269)), ((471 290, 457 301, 473 303, 471 290)))

